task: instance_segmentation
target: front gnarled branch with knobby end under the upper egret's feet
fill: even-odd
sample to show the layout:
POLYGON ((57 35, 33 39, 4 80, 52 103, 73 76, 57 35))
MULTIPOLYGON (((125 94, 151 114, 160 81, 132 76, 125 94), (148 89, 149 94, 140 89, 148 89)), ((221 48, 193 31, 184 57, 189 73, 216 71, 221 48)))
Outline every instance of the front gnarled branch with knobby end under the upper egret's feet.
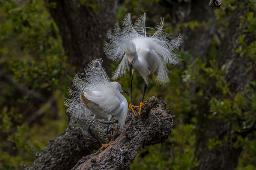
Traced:
POLYGON ((146 102, 148 104, 143 107, 142 116, 128 114, 125 131, 112 137, 115 145, 83 157, 72 170, 129 169, 141 148, 163 143, 173 127, 171 114, 162 100, 158 104, 157 98, 151 97, 146 102))

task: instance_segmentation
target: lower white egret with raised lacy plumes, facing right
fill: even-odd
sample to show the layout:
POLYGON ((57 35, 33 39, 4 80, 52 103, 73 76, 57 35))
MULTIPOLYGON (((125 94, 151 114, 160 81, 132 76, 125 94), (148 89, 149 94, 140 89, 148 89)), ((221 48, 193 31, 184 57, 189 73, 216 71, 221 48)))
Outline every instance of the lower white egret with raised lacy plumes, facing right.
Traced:
POLYGON ((106 130, 108 134, 113 130, 113 128, 108 130, 109 122, 112 118, 116 118, 122 130, 126 121, 128 103, 121 93, 129 93, 123 90, 119 83, 110 82, 101 63, 102 60, 93 60, 85 73, 76 74, 72 84, 74 90, 69 89, 70 99, 65 101, 65 105, 69 107, 67 112, 76 119, 88 119, 89 116, 94 115, 87 130, 103 147, 114 143, 102 144, 91 132, 90 127, 97 118, 108 119, 106 130))

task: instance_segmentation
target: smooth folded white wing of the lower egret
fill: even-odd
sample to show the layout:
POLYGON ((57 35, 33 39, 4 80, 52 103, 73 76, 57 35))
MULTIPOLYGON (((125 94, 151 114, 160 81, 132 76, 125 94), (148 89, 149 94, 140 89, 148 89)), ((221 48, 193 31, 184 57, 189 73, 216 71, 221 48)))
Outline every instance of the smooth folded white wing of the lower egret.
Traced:
POLYGON ((92 91, 85 89, 83 95, 89 101, 97 104, 105 113, 111 113, 121 105, 120 100, 107 90, 92 91))

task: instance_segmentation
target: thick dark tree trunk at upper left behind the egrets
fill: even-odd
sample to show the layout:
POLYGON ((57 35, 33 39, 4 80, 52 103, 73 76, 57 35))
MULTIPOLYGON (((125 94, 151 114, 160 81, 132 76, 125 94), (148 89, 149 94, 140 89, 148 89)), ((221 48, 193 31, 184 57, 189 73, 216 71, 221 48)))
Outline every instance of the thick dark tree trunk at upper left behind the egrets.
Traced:
POLYGON ((82 72, 90 60, 104 57, 103 42, 115 21, 118 0, 84 1, 85 4, 80 3, 82 0, 45 1, 76 72, 82 72), (50 5, 52 2, 56 5, 50 5))

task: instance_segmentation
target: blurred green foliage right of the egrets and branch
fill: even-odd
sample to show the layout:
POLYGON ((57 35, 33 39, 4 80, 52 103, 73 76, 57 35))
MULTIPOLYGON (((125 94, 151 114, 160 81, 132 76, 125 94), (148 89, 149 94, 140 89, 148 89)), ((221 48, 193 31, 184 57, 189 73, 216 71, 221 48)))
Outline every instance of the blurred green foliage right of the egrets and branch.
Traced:
MULTIPOLYGON (((221 31, 228 28, 229 16, 236 7, 236 1, 228 1, 223 5, 224 10, 216 10, 219 18, 217 25, 220 27, 221 31)), ((254 26, 256 25, 254 20, 254 14, 248 11, 244 17, 244 23, 241 24, 241 26, 249 25, 247 26, 247 30, 254 33, 254 26)), ((207 29, 207 24, 202 24, 203 25, 199 24, 197 21, 182 23, 178 25, 178 29, 185 29, 186 27, 190 27, 191 29, 203 27, 207 29)), ((253 34, 253 36, 255 35, 253 34)), ((245 35, 241 35, 239 39, 241 45, 239 49, 237 49, 237 52, 244 54, 245 58, 250 58, 250 62, 253 63, 255 62, 255 42, 248 44, 244 42, 244 40, 245 35)), ((209 111, 212 114, 209 115, 209 118, 221 119, 232 125, 231 136, 224 136, 223 139, 209 139, 209 150, 221 146, 234 148, 243 147, 244 153, 239 160, 237 169, 255 169, 255 153, 254 149, 252 149, 255 147, 255 141, 254 139, 251 140, 239 135, 239 133, 255 128, 255 83, 251 82, 250 85, 246 87, 249 91, 249 95, 247 96, 242 92, 230 92, 230 85, 223 78, 226 68, 220 68, 215 61, 217 46, 218 43, 213 40, 208 61, 205 63, 199 59, 195 59, 193 64, 187 65, 187 62, 191 60, 191 56, 189 54, 180 53, 184 62, 178 67, 169 67, 169 69, 171 69, 169 78, 172 83, 164 88, 164 92, 162 87, 154 84, 154 82, 150 80, 150 83, 152 83, 150 86, 152 88, 147 91, 147 93, 150 94, 149 96, 156 95, 160 97, 163 95, 164 100, 168 103, 167 108, 171 110, 172 114, 176 115, 172 132, 173 136, 171 135, 164 144, 147 146, 141 150, 135 158, 134 163, 131 165, 132 169, 191 169, 198 165, 194 157, 194 144, 186 143, 186 146, 184 146, 182 142, 191 141, 193 134, 195 134, 193 130, 196 130, 198 126, 195 117, 198 114, 197 105, 200 102, 198 99, 202 99, 202 96, 205 95, 210 97, 208 105, 209 111), (186 67, 182 67, 183 65, 186 67), (206 89, 209 87, 209 83, 212 82, 215 82, 214 86, 216 89, 214 90, 219 91, 219 94, 215 96, 213 96, 210 91, 213 89, 206 89), (190 96, 191 88, 198 89, 193 96, 190 96), (167 95, 164 93, 167 93, 167 95), (178 123, 177 118, 178 120, 184 119, 186 121, 178 123), (185 130, 186 127, 189 126, 194 127, 190 129, 192 132, 186 132, 189 137, 184 139, 184 133, 181 132, 178 137, 175 137, 177 130, 185 130), (234 142, 232 142, 231 139, 235 139, 234 142), (172 143, 170 140, 173 140, 172 143), (187 150, 189 150, 189 152, 186 152, 187 150)), ((253 68, 248 69, 252 70, 253 68)), ((251 136, 254 135, 252 134, 251 136)))

